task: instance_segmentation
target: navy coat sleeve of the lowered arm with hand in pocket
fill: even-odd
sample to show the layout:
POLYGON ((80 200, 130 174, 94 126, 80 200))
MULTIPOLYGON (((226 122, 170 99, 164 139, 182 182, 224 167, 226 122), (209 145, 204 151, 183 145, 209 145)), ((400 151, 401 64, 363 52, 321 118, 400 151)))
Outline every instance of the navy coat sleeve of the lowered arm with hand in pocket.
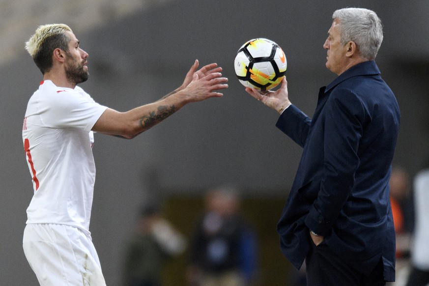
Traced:
POLYGON ((317 234, 326 236, 354 185, 365 112, 359 98, 348 89, 333 91, 324 109, 322 180, 305 224, 317 234))

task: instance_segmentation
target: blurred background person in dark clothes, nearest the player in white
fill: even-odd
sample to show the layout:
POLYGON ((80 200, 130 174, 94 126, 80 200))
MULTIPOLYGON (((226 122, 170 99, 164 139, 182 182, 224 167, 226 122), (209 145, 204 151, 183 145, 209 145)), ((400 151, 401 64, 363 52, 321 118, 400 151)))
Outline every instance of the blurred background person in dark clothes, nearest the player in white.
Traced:
POLYGON ((142 208, 125 252, 124 286, 161 286, 168 259, 185 251, 184 236, 163 218, 155 205, 142 208))

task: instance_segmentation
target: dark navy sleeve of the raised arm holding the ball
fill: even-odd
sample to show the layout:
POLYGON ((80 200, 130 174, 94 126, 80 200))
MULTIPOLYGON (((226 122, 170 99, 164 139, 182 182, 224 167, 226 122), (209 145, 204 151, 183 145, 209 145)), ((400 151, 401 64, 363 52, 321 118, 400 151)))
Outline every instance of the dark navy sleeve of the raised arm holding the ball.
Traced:
POLYGON ((310 123, 310 117, 294 105, 291 105, 280 115, 276 127, 289 136, 295 143, 304 147, 310 123))

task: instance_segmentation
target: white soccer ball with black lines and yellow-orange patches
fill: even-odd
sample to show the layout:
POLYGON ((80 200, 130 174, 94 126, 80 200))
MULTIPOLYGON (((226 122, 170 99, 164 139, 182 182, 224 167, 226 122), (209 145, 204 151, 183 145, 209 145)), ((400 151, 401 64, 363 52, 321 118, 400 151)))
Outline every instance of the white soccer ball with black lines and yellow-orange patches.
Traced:
POLYGON ((260 91, 278 86, 286 73, 286 56, 275 42, 257 38, 246 42, 234 60, 235 74, 243 86, 260 91))

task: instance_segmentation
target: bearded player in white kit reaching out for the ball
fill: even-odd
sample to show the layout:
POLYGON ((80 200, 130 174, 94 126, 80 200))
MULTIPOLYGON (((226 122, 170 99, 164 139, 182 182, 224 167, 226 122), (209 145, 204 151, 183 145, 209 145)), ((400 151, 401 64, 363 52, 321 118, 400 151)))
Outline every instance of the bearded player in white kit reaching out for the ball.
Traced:
POLYGON ((198 69, 160 100, 117 112, 96 103, 81 87, 88 79, 88 54, 66 25, 36 29, 26 49, 43 74, 29 99, 23 124, 24 149, 34 194, 27 209, 23 248, 40 285, 105 285, 91 241, 89 218, 95 165, 93 132, 131 139, 184 105, 227 88, 216 63, 198 69))

